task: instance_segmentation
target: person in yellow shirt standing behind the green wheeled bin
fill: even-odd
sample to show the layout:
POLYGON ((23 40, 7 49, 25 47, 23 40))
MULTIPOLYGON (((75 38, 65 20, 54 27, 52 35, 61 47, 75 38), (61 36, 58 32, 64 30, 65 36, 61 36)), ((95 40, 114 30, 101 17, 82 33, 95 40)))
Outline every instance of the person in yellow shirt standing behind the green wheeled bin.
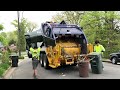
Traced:
MULTIPOLYGON (((100 44, 98 40, 95 41, 94 52, 100 53, 101 54, 100 60, 102 60, 103 52, 105 52, 105 48, 103 47, 103 45, 100 44)), ((104 68, 103 64, 102 67, 104 68)))

